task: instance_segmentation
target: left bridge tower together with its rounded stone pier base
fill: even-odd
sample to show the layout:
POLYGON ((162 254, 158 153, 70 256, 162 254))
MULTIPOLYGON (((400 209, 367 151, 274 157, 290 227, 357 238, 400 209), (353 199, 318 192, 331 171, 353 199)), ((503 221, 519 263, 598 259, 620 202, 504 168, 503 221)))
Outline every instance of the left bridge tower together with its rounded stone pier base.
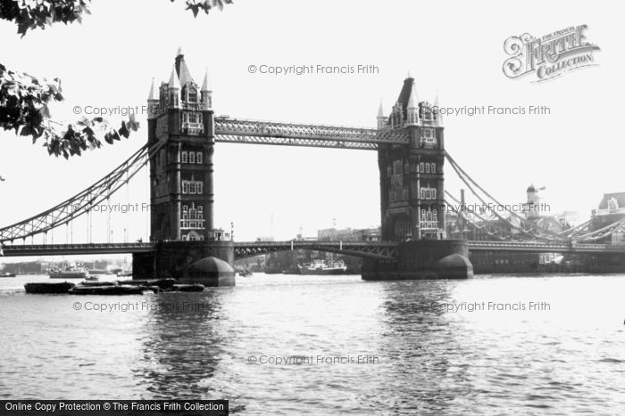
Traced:
POLYGON ((133 255, 135 279, 174 278, 231 286, 234 243, 213 229, 214 114, 208 71, 198 86, 178 51, 169 81, 147 97, 150 158, 150 240, 154 253, 133 255))

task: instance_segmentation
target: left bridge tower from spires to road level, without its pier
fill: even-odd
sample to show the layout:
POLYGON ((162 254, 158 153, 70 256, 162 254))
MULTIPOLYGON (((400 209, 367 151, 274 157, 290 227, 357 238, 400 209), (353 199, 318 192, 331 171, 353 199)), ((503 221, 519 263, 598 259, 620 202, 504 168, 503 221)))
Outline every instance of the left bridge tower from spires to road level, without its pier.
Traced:
POLYGON ((153 80, 147 104, 148 143, 163 143, 150 159, 152 240, 221 239, 212 230, 214 138, 208 71, 198 86, 179 50, 169 81, 157 89, 153 80))

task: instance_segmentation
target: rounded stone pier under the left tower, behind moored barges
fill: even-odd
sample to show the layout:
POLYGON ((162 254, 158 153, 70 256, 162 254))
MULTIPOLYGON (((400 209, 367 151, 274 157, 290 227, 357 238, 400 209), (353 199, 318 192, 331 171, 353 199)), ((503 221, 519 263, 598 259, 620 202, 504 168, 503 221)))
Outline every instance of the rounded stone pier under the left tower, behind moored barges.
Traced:
POLYGON ((133 254, 132 278, 234 286, 234 245, 232 241, 162 241, 152 253, 133 254))

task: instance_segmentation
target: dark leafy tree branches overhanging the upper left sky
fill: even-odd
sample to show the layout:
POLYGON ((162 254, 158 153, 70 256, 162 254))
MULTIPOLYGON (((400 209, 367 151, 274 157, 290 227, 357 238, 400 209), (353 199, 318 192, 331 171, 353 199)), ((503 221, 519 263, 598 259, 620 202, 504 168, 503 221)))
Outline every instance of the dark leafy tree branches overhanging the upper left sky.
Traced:
MULTIPOLYGON (((176 0, 171 0, 174 2, 176 0)), ((84 13, 90 14, 87 5, 91 0, 0 0, 0 20, 17 25, 22 37, 28 30, 46 29, 57 22, 64 24, 82 21, 84 13)), ((223 9, 232 0, 185 0, 187 10, 194 16, 201 11, 208 14, 214 7, 223 9)), ((128 138, 137 131, 134 115, 112 128, 104 118, 82 118, 75 125, 63 124, 50 118, 48 104, 62 102, 61 80, 47 81, 26 73, 8 70, 0 64, 0 127, 14 130, 17 135, 32 136, 33 143, 43 140, 51 155, 81 155, 87 149, 96 149, 128 138)))

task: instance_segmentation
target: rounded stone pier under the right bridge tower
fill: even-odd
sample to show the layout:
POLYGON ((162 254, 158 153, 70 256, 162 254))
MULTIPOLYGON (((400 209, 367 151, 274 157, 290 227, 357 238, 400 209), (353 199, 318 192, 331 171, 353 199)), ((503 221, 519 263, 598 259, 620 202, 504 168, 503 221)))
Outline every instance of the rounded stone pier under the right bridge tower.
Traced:
POLYGON ((364 259, 362 280, 467 279, 473 277, 466 240, 404 241, 396 261, 364 259))

